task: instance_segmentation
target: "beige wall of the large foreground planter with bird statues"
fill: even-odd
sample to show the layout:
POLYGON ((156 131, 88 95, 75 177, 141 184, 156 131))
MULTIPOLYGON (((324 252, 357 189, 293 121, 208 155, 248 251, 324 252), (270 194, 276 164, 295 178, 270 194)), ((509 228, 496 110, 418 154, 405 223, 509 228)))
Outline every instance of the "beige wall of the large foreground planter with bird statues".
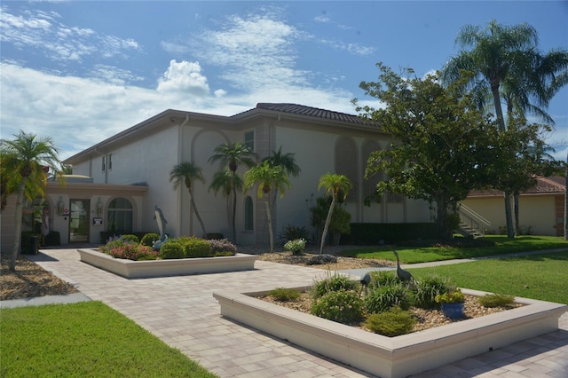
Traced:
MULTIPOLYGON (((299 287, 302 289, 301 287, 299 287)), ((264 302, 253 293, 215 292, 221 315, 383 378, 406 377, 558 329, 568 306, 516 298, 525 306, 397 337, 264 302)), ((485 292, 462 289, 464 294, 485 292)))

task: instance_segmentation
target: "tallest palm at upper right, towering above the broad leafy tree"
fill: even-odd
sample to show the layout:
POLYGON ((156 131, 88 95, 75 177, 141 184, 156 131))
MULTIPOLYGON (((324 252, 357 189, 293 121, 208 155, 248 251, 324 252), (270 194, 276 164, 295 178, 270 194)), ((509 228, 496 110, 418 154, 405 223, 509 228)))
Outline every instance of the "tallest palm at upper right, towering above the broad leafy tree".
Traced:
MULTIPOLYGON (((447 61, 442 80, 453 83, 461 78, 462 70, 474 73, 469 79, 469 87, 479 92, 488 87, 500 129, 505 130, 500 87, 511 75, 519 75, 523 80, 533 75, 533 72, 528 72, 530 65, 527 61, 538 56, 536 30, 526 23, 503 27, 492 20, 484 29, 466 25, 461 28, 455 42, 470 50, 461 50, 458 56, 447 61)), ((507 235, 514 238, 510 191, 506 189, 504 192, 507 235)))

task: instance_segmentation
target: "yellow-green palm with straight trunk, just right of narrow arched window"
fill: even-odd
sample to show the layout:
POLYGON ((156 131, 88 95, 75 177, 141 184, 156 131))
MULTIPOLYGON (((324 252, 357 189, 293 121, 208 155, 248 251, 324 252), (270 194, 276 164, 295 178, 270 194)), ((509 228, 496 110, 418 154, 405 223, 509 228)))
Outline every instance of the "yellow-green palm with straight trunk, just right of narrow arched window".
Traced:
POLYGON ((284 196, 286 189, 290 188, 288 175, 281 165, 273 166, 268 161, 262 161, 260 164, 248 169, 244 175, 245 190, 250 189, 258 184, 256 195, 263 198, 266 194, 266 219, 268 220, 268 235, 270 239, 270 251, 274 252, 274 232, 272 230, 272 209, 270 205, 270 193, 280 191, 280 198, 284 196))

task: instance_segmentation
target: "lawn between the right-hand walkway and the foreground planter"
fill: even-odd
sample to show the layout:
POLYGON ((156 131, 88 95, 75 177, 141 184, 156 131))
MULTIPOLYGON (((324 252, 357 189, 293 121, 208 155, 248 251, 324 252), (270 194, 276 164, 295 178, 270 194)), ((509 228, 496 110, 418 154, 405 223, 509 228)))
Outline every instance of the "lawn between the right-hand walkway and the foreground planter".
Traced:
POLYGON ((416 280, 436 274, 450 277, 459 287, 568 304, 568 250, 408 271, 416 280))

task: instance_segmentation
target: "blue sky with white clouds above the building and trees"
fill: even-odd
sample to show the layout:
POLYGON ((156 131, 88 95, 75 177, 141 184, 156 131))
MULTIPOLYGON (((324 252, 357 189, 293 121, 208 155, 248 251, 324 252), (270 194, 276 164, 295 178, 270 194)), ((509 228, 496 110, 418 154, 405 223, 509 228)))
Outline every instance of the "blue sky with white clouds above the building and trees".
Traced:
MULTIPOLYGON (((51 136, 66 159, 172 108, 232 115, 258 102, 355 114, 377 62, 417 75, 459 29, 527 22, 568 49, 566 1, 3 1, 0 136, 51 136)), ((548 108, 568 152, 568 88, 548 108)), ((287 147, 292 151, 293 146, 287 147)))

